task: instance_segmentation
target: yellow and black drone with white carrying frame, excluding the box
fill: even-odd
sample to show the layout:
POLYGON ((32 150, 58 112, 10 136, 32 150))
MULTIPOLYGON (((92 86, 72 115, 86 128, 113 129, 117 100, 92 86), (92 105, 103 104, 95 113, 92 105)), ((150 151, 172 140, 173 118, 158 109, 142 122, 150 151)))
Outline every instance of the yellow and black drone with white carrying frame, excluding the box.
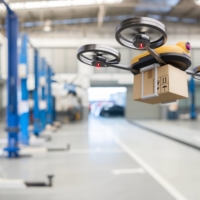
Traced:
MULTIPOLYGON (((116 49, 104 45, 89 44, 78 49, 79 61, 97 68, 114 67, 127 70, 133 75, 141 74, 141 95, 143 99, 158 97, 158 68, 171 65, 200 80, 200 66, 191 66, 191 45, 189 42, 178 42, 176 45, 163 46, 167 41, 165 25, 148 17, 134 17, 120 22, 116 27, 116 40, 125 47, 134 50, 146 50, 135 56, 130 66, 120 64, 121 54, 116 49), (154 91, 143 95, 144 72, 154 70, 154 91)), ((176 100, 176 99, 174 99, 176 100)))

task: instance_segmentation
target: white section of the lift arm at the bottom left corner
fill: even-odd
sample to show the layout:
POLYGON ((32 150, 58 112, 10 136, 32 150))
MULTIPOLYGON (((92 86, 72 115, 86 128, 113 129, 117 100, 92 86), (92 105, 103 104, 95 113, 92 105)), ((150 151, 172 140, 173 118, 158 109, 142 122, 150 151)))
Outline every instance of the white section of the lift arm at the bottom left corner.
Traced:
POLYGON ((0 189, 25 189, 26 185, 23 180, 1 179, 0 189))

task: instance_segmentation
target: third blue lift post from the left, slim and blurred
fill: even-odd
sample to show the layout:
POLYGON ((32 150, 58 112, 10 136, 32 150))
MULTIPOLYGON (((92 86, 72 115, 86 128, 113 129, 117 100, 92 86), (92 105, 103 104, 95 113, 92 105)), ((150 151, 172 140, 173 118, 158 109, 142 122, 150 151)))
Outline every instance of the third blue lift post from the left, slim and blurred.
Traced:
POLYGON ((40 121, 40 110, 39 110, 39 95, 38 95, 38 89, 39 89, 39 54, 36 49, 34 49, 34 78, 35 78, 35 88, 33 91, 33 98, 34 98, 34 108, 33 108, 33 116, 34 116, 34 134, 36 136, 39 136, 39 133, 41 131, 41 121, 40 121))

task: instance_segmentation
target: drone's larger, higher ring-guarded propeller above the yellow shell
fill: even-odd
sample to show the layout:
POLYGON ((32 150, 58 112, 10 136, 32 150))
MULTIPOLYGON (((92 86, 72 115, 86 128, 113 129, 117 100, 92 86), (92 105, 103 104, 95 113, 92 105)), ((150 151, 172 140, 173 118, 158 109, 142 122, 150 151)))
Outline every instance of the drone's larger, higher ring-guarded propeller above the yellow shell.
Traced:
POLYGON ((165 25, 155 19, 134 17, 117 25, 115 37, 121 45, 131 49, 144 50, 145 45, 140 46, 140 42, 135 42, 138 40, 138 36, 148 40, 151 49, 160 47, 167 41, 165 25))

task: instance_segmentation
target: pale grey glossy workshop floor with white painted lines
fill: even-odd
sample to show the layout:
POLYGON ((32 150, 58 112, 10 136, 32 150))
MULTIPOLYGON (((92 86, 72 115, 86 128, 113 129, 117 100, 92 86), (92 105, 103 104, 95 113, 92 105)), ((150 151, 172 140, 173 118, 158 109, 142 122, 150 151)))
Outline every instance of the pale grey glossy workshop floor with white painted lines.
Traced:
POLYGON ((199 200, 200 151, 121 118, 63 125, 48 147, 71 150, 0 159, 0 178, 52 188, 0 189, 0 200, 199 200))

